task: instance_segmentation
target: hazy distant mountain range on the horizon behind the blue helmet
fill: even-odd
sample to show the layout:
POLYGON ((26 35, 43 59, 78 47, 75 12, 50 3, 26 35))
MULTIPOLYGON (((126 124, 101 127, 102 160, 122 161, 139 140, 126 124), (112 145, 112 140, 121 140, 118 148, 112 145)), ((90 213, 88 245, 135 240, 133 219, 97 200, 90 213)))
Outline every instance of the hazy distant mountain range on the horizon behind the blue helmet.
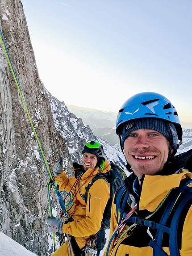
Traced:
MULTIPOLYGON (((120 146, 119 137, 115 132, 117 113, 91 108, 81 108, 67 104, 66 106, 71 113, 74 113, 77 118, 81 118, 83 123, 91 128, 95 136, 102 138, 116 148, 120 146)), ((184 142, 186 143, 188 136, 191 136, 189 134, 191 134, 190 130, 192 129, 192 123, 181 122, 181 126, 183 127, 183 137, 184 142)), ((191 142, 188 142, 188 144, 190 143, 191 142)), ((188 147, 188 145, 186 145, 186 147, 188 147)), ((184 149, 185 145, 183 144, 180 148, 184 149)))

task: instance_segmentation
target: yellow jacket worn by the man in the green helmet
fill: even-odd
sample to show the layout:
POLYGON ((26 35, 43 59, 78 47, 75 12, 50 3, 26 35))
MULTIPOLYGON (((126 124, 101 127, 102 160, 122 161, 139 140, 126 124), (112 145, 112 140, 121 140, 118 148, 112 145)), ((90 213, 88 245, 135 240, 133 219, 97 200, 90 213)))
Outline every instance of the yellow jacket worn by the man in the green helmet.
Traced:
MULTIPOLYGON (((104 159, 101 173, 109 172, 110 169, 111 166, 104 159)), ((98 172, 99 168, 89 168, 80 177, 75 187, 74 184, 77 180, 75 177, 67 177, 65 172, 62 172, 58 177, 55 176, 59 190, 65 190, 71 193, 71 197, 74 197, 71 206, 67 207, 67 212, 68 214, 72 214, 74 221, 63 223, 62 231, 63 233, 74 236, 79 248, 85 245, 86 239, 91 235, 95 235, 100 230, 104 209, 110 197, 108 182, 104 179, 99 179, 90 187, 87 205, 85 204, 82 195, 85 194, 85 188, 88 186, 88 183, 98 172)))

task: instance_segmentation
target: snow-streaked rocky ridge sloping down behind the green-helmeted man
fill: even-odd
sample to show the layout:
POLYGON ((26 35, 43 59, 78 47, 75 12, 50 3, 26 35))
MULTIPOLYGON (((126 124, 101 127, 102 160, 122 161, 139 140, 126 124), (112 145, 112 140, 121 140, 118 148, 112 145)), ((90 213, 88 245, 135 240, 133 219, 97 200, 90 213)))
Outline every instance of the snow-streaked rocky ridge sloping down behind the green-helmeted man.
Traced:
POLYGON ((104 141, 102 138, 96 137, 88 125, 84 125, 81 118, 76 118, 63 102, 52 97, 49 92, 47 95, 50 99, 51 111, 53 113, 55 127, 58 133, 63 137, 65 144, 71 154, 74 162, 81 163, 82 150, 84 144, 90 140, 97 140, 104 146, 104 157, 108 161, 113 161, 125 169, 125 157, 123 153, 115 147, 104 141))

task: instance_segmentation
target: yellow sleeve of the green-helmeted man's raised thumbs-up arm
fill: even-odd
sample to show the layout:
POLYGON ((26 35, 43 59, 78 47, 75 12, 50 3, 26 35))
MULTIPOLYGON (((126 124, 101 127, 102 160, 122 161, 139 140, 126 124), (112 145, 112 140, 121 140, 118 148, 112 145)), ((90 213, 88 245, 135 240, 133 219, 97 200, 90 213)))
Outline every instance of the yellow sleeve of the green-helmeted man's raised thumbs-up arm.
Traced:
POLYGON ((65 172, 60 173, 58 177, 54 176, 54 178, 58 182, 59 190, 66 190, 67 192, 71 190, 76 180, 75 177, 67 177, 65 172))

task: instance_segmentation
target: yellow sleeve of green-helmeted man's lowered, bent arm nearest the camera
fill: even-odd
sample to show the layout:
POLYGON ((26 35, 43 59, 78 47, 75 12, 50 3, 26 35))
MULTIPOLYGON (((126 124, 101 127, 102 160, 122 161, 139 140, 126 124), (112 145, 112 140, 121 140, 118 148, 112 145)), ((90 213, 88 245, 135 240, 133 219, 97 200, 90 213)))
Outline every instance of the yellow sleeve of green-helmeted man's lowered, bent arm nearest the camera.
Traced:
POLYGON ((104 179, 96 180, 88 192, 85 218, 63 224, 63 233, 75 237, 95 235, 100 230, 109 196, 109 184, 104 179))

